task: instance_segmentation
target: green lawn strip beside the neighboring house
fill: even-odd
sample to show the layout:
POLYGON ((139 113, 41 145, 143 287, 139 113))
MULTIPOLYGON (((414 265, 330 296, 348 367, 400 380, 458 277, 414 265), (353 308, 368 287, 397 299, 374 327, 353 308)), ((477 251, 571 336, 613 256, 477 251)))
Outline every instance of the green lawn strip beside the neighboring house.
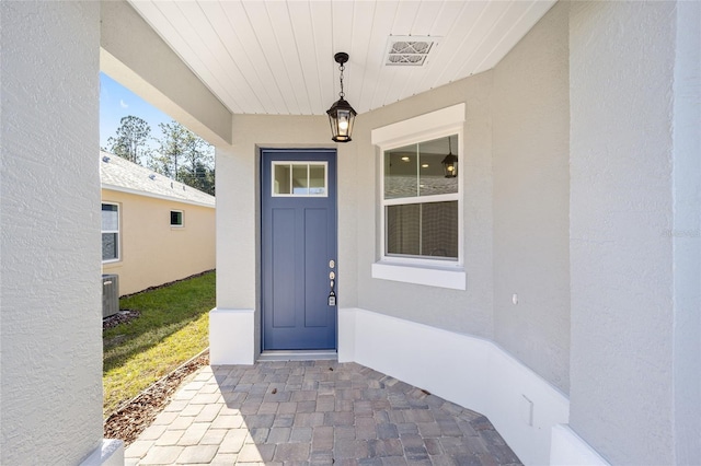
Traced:
POLYGON ((214 271, 119 300, 141 315, 103 331, 105 417, 207 348, 214 306, 214 271))

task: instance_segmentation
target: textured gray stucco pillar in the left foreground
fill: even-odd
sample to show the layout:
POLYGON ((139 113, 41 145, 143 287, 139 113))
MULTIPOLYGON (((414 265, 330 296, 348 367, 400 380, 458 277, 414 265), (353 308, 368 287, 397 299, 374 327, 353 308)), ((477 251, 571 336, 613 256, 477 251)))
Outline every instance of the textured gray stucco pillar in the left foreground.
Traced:
POLYGON ((100 3, 0 3, 0 463, 102 442, 100 3))

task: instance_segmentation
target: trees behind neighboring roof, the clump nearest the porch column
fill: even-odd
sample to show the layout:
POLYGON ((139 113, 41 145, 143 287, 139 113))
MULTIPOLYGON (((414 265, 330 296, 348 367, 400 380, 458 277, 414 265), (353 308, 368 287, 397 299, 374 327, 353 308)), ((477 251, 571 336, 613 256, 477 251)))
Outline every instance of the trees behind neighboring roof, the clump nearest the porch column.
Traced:
POLYGON ((168 177, 214 195, 214 150, 204 139, 179 124, 160 124, 160 153, 150 167, 168 177))

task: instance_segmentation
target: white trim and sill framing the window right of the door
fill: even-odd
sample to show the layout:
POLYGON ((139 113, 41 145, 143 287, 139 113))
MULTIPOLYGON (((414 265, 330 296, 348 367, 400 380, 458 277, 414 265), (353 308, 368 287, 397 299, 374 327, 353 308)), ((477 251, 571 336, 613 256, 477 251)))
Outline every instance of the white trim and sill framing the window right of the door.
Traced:
MULTIPOLYGON (((458 170, 458 259, 427 259, 414 257, 397 257, 386 255, 386 221, 384 206, 394 202, 384 201, 384 151, 403 145, 429 141, 441 137, 458 135, 458 160, 464 161, 462 148, 464 145, 464 104, 453 105, 440 110, 432 112, 404 121, 399 121, 371 132, 372 144, 380 153, 380 259, 372 264, 371 273, 375 279, 401 281, 424 284, 428 287, 448 288, 453 290, 467 289, 464 271, 464 170, 458 170)), ((463 165, 464 166, 464 165, 463 165)), ((432 196, 432 201, 440 200, 441 196, 432 196)), ((404 202, 400 202, 404 203, 404 202)))

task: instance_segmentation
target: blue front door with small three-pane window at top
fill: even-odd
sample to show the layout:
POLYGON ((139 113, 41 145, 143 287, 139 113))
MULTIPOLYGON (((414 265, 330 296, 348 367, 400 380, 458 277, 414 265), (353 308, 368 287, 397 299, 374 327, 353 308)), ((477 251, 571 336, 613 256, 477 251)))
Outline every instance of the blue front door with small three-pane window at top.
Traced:
POLYGON ((263 350, 336 349, 336 152, 261 163, 263 350))

